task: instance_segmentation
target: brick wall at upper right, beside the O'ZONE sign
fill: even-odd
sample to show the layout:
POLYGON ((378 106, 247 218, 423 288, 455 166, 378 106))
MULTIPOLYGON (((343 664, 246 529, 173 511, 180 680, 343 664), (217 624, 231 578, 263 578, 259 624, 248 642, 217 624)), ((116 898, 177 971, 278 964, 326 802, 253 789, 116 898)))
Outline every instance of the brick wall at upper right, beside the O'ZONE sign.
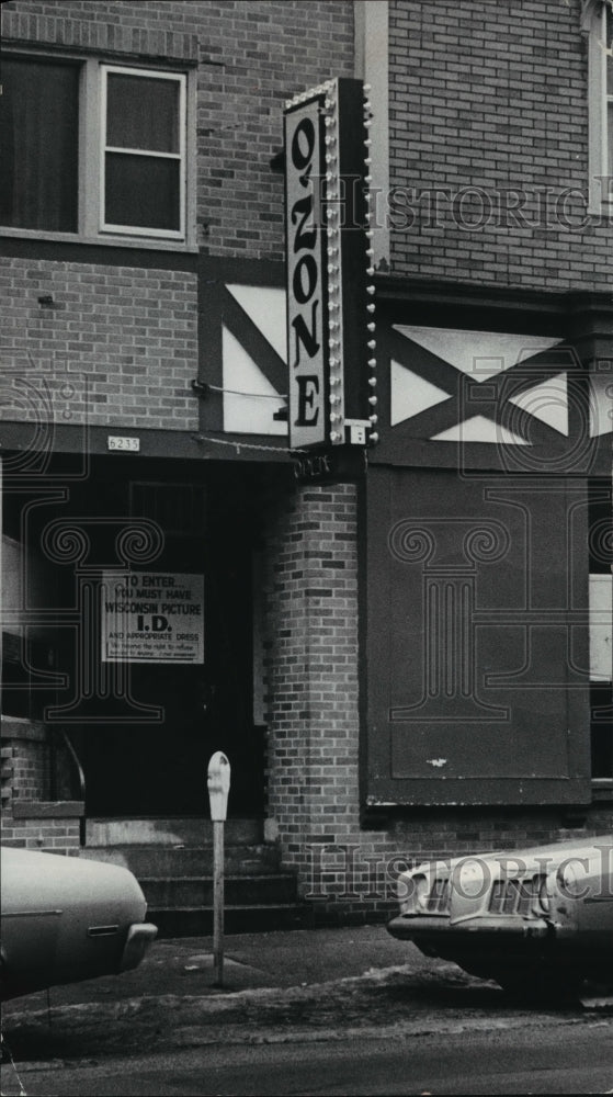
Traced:
POLYGON ((611 289, 613 222, 586 214, 580 11, 579 0, 390 0, 395 274, 611 289))

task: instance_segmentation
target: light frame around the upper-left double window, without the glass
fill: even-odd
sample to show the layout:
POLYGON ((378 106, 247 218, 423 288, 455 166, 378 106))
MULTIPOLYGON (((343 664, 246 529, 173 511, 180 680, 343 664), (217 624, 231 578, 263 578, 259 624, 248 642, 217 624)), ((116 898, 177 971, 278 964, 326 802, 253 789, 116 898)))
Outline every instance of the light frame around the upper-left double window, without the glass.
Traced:
POLYGON ((19 228, 0 225, 0 236, 20 239, 45 239, 58 242, 114 245, 115 247, 151 248, 167 251, 191 251, 196 247, 196 68, 169 64, 152 66, 144 59, 140 64, 130 58, 109 60, 99 56, 68 53, 66 50, 24 49, 4 46, 5 56, 23 60, 37 59, 77 65, 79 71, 78 103, 78 218, 77 230, 19 228), (105 225, 104 214, 104 154, 105 114, 103 83, 105 70, 173 79, 180 83, 180 229, 151 229, 139 226, 105 225))

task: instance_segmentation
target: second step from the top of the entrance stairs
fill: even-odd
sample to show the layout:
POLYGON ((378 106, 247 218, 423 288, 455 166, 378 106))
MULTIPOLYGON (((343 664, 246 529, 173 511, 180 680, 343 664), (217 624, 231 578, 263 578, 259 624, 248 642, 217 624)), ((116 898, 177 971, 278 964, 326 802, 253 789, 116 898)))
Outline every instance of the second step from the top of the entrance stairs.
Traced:
MULTIPOLYGON (((229 875, 260 875, 280 868, 280 851, 273 844, 228 845, 224 849, 225 870, 229 875)), ((122 864, 137 880, 145 877, 209 877, 213 873, 212 846, 87 846, 80 856, 92 861, 122 864)))

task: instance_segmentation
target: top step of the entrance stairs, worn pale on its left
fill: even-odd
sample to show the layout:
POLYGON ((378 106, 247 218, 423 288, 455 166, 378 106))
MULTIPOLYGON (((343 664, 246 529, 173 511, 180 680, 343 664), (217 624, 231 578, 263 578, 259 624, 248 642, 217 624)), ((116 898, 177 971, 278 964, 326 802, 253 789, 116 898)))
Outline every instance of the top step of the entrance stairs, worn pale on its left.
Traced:
MULTIPOLYGON (((263 840, 261 818, 227 819, 226 846, 257 846, 263 840)), ((212 846, 213 823, 206 818, 88 818, 88 847, 212 846)))

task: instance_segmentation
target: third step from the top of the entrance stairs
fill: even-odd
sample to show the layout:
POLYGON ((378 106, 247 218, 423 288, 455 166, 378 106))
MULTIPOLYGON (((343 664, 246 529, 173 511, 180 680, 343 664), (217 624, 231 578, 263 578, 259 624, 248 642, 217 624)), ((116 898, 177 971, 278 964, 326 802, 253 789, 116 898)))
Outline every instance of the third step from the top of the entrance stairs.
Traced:
MULTIPOLYGON (((213 877, 140 877, 149 916, 177 907, 213 907, 213 877)), ((296 902, 296 878, 291 872, 234 877, 226 873, 227 906, 271 906, 296 902)))

